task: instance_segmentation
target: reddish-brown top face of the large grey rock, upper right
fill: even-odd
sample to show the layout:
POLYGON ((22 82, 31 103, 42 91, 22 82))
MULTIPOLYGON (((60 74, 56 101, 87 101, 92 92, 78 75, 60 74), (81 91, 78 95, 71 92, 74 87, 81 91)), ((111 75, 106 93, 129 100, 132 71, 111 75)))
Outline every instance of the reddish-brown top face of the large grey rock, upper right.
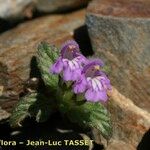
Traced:
POLYGON ((149 0, 94 0, 88 11, 102 16, 149 18, 149 5, 149 0))

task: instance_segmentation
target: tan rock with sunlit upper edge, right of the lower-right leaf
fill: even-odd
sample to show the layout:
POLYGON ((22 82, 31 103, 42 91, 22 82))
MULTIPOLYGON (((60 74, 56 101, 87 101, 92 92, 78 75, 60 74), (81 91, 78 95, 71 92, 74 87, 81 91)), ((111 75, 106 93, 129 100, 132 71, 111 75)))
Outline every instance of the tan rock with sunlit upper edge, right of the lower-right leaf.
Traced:
POLYGON ((112 139, 124 141, 136 148, 150 128, 150 113, 137 107, 115 88, 108 110, 113 123, 112 139))

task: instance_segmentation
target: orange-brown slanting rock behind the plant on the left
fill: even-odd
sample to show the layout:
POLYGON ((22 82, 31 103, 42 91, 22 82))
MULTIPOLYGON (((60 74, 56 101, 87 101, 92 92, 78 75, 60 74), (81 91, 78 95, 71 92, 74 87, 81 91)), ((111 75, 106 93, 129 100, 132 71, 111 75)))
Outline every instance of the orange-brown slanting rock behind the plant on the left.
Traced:
POLYGON ((0 106, 11 111, 29 77, 37 77, 37 45, 46 41, 59 46, 73 38, 74 30, 84 24, 85 11, 37 18, 0 35, 0 106), (31 73, 32 70, 32 73, 31 73))

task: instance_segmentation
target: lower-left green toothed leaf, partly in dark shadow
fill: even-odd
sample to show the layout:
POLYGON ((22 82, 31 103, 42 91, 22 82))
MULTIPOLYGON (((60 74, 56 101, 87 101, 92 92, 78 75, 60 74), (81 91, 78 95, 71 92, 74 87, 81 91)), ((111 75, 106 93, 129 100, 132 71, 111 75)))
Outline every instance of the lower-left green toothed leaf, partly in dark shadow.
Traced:
POLYGON ((36 117, 38 122, 43 122, 49 118, 53 112, 51 101, 41 94, 31 93, 22 97, 10 116, 11 127, 22 126, 22 121, 27 117, 36 117))

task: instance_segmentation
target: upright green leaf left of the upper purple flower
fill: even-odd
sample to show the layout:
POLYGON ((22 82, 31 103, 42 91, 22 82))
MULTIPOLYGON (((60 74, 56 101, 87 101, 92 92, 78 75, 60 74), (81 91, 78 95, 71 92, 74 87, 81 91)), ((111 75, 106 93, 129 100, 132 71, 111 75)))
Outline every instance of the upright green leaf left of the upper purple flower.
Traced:
POLYGON ((57 89, 58 87, 58 75, 50 73, 50 67, 54 64, 58 57, 59 51, 56 47, 48 45, 45 42, 42 42, 38 46, 38 66, 45 85, 49 86, 51 89, 57 89))

